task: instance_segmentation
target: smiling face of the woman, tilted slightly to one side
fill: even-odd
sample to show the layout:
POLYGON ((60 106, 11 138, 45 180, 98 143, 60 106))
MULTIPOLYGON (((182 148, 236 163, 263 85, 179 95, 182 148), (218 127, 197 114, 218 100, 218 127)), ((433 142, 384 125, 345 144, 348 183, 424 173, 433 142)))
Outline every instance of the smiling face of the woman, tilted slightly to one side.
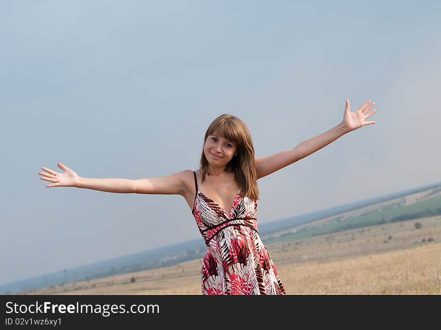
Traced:
POLYGON ((214 167, 227 166, 236 154, 236 151, 236 143, 225 139, 218 133, 208 135, 203 146, 205 158, 214 167))

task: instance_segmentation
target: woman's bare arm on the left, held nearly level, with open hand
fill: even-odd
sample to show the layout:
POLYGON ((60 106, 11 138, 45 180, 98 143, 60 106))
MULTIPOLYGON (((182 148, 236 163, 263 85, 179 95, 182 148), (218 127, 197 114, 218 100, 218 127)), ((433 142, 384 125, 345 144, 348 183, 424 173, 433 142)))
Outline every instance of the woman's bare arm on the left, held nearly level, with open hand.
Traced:
POLYGON ((46 186, 47 188, 77 187, 115 193, 166 195, 184 195, 187 193, 186 190, 188 190, 186 188, 188 173, 186 172, 189 170, 158 178, 132 180, 119 178, 83 178, 62 163, 58 163, 58 167, 61 168, 64 173, 58 173, 46 167, 42 167, 42 170, 46 171, 47 173, 39 172, 40 175, 43 175, 40 179, 52 182, 52 184, 46 186))

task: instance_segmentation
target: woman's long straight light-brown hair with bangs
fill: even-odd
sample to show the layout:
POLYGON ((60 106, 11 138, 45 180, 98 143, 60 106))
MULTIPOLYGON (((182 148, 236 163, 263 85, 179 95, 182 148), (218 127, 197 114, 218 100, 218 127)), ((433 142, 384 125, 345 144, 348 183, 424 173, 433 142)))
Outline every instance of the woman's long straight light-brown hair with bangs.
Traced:
POLYGON ((208 170, 208 160, 205 158, 203 146, 208 135, 219 134, 237 145, 237 155, 227 164, 225 170, 234 172, 236 182, 241 187, 241 196, 259 199, 257 186, 257 165, 254 156, 253 140, 247 125, 238 117, 223 114, 212 121, 203 138, 202 155, 200 157, 200 173, 202 182, 208 170))

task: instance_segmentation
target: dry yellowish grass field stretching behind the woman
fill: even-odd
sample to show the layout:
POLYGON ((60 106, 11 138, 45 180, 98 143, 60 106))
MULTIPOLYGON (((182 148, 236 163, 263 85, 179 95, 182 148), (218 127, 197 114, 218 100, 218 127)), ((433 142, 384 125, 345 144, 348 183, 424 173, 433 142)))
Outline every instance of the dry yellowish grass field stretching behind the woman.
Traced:
MULTIPOLYGON (((441 294, 441 216, 273 243, 267 249, 287 294, 441 294)), ((197 259, 22 294, 200 294, 200 269, 197 259)))

